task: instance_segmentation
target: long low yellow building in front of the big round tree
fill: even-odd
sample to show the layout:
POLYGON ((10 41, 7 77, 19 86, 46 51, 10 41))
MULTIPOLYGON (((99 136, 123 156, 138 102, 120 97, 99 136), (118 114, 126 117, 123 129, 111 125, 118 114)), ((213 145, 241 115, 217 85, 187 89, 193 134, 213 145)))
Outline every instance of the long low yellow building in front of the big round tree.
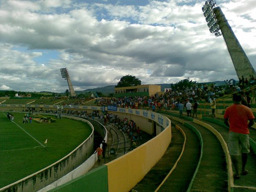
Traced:
POLYGON ((122 96, 151 96, 161 91, 161 85, 156 84, 142 84, 131 87, 117 87, 115 88, 115 97, 122 96))

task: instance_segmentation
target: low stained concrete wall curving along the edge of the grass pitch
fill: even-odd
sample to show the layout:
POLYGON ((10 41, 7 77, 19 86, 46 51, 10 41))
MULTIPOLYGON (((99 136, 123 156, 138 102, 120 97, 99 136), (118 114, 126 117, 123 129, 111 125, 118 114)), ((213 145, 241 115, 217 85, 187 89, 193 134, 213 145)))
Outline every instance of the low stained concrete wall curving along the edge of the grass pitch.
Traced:
MULTIPOLYGON (((48 114, 47 114, 48 115, 48 114)), ((63 116, 87 122, 92 128, 90 136, 56 163, 0 189, 1 192, 34 192, 49 185, 83 163, 93 153, 93 125, 85 119, 63 116)))

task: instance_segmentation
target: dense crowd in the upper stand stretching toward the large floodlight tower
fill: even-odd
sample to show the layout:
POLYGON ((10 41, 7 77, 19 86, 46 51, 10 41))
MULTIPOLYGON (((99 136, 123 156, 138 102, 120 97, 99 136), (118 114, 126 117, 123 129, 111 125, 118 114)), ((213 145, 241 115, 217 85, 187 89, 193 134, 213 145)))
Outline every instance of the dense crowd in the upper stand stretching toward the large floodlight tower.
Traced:
POLYGON ((255 84, 255 79, 250 76, 241 78, 239 81, 235 79, 224 80, 224 85, 216 86, 215 84, 195 84, 192 87, 177 87, 177 89, 166 89, 166 92, 152 96, 124 96, 119 98, 99 98, 96 99, 98 106, 114 105, 119 108, 132 109, 151 109, 152 111, 161 109, 176 109, 179 102, 194 103, 197 101, 210 102, 210 98, 217 99, 221 96, 241 91, 246 87, 255 84))

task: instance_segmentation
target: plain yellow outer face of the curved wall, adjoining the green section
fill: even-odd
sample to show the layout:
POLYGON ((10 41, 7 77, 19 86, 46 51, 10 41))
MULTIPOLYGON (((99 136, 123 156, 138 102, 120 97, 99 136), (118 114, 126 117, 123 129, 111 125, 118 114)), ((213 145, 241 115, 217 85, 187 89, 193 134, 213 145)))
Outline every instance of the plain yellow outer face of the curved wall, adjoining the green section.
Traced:
POLYGON ((108 166, 108 191, 131 190, 163 156, 171 143, 171 124, 152 140, 119 157, 108 166), (154 154, 154 155, 152 155, 154 154))

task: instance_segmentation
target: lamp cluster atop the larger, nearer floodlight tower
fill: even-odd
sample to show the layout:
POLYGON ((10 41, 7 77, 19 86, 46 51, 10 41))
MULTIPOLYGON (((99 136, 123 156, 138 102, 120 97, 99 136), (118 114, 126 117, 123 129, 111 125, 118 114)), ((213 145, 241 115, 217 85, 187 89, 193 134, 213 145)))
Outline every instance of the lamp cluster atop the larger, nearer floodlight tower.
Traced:
POLYGON ((213 9, 216 7, 215 0, 208 0, 204 3, 202 7, 202 11, 204 12, 204 17, 207 26, 209 27, 209 31, 215 35, 215 37, 221 36, 220 26, 218 24, 218 20, 216 19, 215 13, 213 9))

